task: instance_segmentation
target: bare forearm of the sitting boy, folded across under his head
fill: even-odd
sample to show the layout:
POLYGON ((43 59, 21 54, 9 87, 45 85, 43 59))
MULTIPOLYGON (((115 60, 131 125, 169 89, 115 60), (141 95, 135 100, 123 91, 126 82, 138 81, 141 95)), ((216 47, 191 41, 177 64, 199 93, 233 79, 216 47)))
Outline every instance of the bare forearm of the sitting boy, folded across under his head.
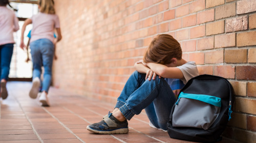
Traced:
POLYGON ((163 78, 182 79, 184 78, 182 71, 178 67, 167 67, 158 63, 143 63, 154 71, 158 76, 163 78))

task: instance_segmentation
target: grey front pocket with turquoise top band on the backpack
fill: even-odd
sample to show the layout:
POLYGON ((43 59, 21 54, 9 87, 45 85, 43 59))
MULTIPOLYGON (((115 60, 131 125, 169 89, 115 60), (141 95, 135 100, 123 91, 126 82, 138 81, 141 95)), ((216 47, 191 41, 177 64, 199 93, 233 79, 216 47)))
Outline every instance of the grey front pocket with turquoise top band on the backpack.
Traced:
POLYGON ((217 119, 221 99, 204 94, 181 92, 173 112, 173 127, 194 127, 207 130, 217 119))

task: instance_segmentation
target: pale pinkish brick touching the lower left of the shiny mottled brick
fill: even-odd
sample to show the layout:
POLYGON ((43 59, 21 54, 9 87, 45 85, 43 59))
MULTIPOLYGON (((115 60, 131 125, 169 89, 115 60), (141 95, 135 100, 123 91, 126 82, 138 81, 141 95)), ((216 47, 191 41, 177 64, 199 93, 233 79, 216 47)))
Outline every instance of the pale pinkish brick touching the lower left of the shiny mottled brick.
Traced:
POLYGON ((236 33, 216 35, 214 46, 215 48, 236 46, 236 33))

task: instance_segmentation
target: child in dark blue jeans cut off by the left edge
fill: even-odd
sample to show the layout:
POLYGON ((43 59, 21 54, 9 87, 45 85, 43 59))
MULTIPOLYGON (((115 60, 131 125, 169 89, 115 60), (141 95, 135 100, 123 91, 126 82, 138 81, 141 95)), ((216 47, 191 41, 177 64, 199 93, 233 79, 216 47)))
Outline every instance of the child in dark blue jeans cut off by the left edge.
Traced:
MULTIPOLYGON (((8 92, 6 82, 10 71, 10 63, 13 53, 13 32, 19 30, 18 18, 15 13, 8 9, 9 0, 0 1, 0 71, 1 71, 1 94, 0 98, 6 99, 8 92)), ((11 6, 10 6, 11 7, 11 6)))

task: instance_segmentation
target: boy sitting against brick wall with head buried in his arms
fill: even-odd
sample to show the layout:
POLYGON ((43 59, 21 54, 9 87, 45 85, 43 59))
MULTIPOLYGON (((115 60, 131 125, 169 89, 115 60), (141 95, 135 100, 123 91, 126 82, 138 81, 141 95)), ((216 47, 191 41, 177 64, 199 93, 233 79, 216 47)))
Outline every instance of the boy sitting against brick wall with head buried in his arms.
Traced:
POLYGON ((153 128, 167 130, 175 93, 186 82, 198 76, 195 62, 182 59, 179 42, 173 36, 158 35, 148 46, 144 59, 135 63, 134 73, 127 80, 112 113, 99 123, 87 126, 98 134, 127 133, 128 122, 145 109, 153 128))

